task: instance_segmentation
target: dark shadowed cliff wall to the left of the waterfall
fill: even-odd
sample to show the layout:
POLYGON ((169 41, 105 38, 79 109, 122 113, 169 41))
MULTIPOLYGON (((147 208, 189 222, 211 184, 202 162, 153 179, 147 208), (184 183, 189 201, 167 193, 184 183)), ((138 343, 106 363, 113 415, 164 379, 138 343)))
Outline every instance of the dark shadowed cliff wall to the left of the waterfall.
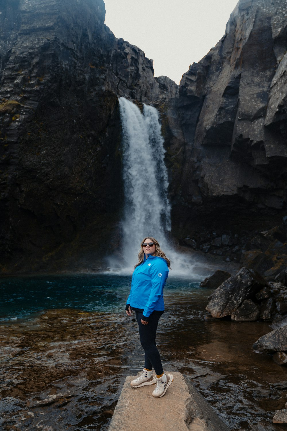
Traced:
POLYGON ((157 98, 152 60, 114 37, 102 0, 0 12, 2 271, 96 269, 123 200, 117 96, 157 98))

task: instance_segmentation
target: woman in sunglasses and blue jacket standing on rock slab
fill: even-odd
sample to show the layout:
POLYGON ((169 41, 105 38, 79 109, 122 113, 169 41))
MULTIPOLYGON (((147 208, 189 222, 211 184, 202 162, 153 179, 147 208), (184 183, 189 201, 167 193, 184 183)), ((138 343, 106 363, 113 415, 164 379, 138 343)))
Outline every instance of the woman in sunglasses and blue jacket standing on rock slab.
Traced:
POLYGON ((136 312, 139 338, 145 350, 145 366, 139 377, 131 381, 131 386, 141 387, 156 384, 154 397, 163 397, 173 382, 173 375, 165 374, 160 354, 155 343, 155 334, 160 316, 164 312, 164 285, 167 281, 170 260, 160 250, 153 237, 146 237, 141 244, 139 262, 135 266, 130 296, 127 299, 128 316, 136 312), (152 369, 156 373, 153 377, 152 369))

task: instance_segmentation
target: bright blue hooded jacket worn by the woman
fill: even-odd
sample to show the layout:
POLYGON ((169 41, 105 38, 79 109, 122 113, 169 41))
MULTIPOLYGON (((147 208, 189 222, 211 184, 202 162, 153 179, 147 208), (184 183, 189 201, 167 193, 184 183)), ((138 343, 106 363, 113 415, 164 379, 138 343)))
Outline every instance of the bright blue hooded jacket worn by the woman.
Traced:
POLYGON ((143 309, 143 318, 147 320, 154 310, 163 311, 168 272, 167 261, 162 257, 149 255, 144 258, 133 272, 127 306, 143 309))

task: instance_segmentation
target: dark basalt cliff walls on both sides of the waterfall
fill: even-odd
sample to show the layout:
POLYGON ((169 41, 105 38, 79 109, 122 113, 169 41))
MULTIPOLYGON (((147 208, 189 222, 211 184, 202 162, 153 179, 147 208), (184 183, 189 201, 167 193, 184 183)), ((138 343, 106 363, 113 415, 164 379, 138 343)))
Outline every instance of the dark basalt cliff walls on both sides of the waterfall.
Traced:
POLYGON ((103 0, 0 2, 2 273, 97 269, 117 244, 119 96, 161 112, 175 236, 272 223, 286 204, 285 15, 241 0, 178 89, 114 37, 103 0))

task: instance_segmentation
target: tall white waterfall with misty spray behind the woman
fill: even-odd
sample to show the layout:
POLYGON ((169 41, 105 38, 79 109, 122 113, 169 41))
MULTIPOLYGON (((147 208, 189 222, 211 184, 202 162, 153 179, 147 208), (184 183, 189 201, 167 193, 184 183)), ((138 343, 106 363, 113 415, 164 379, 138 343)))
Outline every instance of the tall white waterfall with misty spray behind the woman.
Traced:
POLYGON ((138 106, 119 98, 123 129, 124 218, 120 252, 123 262, 110 261, 113 272, 130 273, 137 262, 139 245, 151 235, 171 260, 170 275, 198 279, 190 257, 177 253, 168 241, 170 203, 167 198, 167 168, 164 164, 164 139, 157 109, 138 106), (118 267, 117 267, 118 266, 118 267), (120 266, 120 267, 119 267, 120 266), (117 268, 116 268, 117 267, 117 268))

